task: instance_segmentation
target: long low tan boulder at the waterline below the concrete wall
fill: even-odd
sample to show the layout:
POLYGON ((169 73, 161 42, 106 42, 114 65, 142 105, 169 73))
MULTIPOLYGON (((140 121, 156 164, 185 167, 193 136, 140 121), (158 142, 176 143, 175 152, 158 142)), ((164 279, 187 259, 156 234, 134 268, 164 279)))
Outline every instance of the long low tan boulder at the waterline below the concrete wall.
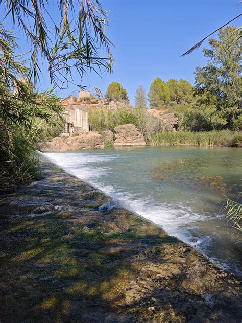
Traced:
POLYGON ((103 137, 99 133, 87 132, 72 137, 57 137, 50 142, 39 143, 39 150, 47 151, 69 151, 81 149, 104 148, 103 137))

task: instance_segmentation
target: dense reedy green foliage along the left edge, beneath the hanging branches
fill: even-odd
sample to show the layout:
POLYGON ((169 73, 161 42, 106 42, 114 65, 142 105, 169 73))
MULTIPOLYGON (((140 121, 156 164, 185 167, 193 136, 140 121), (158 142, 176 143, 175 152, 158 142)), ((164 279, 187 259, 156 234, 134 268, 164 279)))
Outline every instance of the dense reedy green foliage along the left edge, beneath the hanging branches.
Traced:
POLYGON ((0 32, 0 180, 1 190, 17 181, 29 181, 39 174, 34 143, 40 131, 35 124, 48 127, 61 117, 59 98, 53 90, 33 93, 27 82, 27 68, 14 56, 15 39, 0 32), (20 77, 20 79, 19 79, 20 77), (12 92, 12 85, 15 91, 12 92))

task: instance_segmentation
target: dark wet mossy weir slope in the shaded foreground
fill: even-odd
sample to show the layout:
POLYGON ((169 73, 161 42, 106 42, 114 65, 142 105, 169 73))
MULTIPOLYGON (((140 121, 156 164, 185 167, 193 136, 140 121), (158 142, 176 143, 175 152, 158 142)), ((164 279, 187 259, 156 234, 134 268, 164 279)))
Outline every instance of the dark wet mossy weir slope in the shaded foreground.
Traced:
POLYGON ((42 160, 1 197, 4 322, 237 322, 239 280, 42 160))

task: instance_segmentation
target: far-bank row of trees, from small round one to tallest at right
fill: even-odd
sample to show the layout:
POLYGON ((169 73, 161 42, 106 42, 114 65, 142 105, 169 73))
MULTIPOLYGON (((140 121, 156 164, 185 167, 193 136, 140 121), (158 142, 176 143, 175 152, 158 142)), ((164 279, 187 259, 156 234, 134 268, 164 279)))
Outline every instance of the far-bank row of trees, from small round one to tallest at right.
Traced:
MULTIPOLYGON (((241 130, 241 39, 236 43, 236 27, 219 31, 219 39, 209 40, 204 49, 208 59, 195 71, 195 85, 180 79, 167 82, 157 77, 148 91, 152 109, 172 112, 179 118, 179 130, 241 130)), ((146 90, 140 85, 135 93, 135 106, 147 108, 146 90)), ((109 99, 128 99, 127 91, 117 82, 108 87, 109 99)))

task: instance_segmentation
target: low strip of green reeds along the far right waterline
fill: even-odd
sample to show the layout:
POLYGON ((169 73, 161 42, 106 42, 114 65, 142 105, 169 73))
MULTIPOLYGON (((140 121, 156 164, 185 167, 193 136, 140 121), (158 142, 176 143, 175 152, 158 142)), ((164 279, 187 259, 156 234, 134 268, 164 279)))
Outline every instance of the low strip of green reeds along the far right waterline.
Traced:
POLYGON ((151 145, 242 147, 242 132, 231 130, 160 132, 152 136, 151 145))

